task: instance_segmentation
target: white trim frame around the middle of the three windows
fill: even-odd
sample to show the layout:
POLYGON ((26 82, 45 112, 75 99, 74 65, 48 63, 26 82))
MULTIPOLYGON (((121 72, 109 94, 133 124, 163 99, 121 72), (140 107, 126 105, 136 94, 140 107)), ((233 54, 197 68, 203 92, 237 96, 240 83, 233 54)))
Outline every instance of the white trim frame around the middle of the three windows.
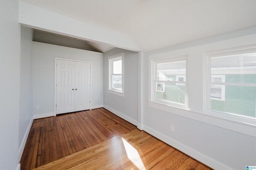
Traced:
POLYGON ((156 89, 156 81, 158 82, 168 82, 168 81, 159 81, 155 80, 156 77, 156 64, 157 63, 164 63, 164 62, 176 62, 176 61, 186 61, 186 76, 188 76, 188 55, 181 55, 181 56, 176 56, 176 57, 168 57, 168 58, 162 58, 162 59, 151 59, 149 62, 149 75, 148 75, 148 101, 149 101, 149 107, 153 107, 155 109, 163 110, 165 111, 162 107, 165 105, 166 107, 176 107, 180 109, 188 109, 188 81, 181 82, 181 81, 171 81, 172 83, 184 83, 186 88, 185 88, 185 104, 179 104, 179 103, 174 103, 174 102, 169 102, 169 101, 163 101, 156 99, 156 93, 154 93, 154 90, 156 89), (151 103, 154 103, 153 105, 151 103))

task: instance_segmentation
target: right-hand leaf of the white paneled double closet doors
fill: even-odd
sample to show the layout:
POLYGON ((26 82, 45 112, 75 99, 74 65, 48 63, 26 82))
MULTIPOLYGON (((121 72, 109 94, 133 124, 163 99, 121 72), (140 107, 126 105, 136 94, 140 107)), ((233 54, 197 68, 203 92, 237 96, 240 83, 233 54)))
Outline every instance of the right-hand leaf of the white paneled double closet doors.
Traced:
POLYGON ((75 62, 75 110, 90 109, 90 63, 75 62))

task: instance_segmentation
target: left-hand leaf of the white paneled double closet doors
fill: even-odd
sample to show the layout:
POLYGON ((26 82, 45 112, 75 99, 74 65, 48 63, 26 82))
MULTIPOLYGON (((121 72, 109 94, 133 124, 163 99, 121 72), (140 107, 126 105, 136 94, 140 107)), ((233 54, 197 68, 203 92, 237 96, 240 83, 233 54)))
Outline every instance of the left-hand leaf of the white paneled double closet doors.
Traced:
POLYGON ((75 63, 57 60, 56 114, 74 112, 75 63))

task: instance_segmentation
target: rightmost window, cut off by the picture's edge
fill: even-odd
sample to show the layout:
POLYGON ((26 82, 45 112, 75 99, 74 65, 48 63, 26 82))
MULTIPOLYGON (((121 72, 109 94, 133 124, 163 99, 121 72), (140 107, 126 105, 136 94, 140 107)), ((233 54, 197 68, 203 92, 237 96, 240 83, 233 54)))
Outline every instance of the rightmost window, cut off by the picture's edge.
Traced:
POLYGON ((238 121, 241 117, 255 119, 256 52, 212 53, 208 55, 208 71, 208 111, 240 117, 238 121))

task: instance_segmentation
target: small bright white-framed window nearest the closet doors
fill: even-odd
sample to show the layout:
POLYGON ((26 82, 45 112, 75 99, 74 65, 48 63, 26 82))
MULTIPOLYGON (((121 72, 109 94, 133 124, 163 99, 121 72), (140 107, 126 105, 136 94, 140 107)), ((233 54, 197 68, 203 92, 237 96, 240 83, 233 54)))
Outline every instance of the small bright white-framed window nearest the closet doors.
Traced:
POLYGON ((124 53, 108 57, 108 93, 124 97, 124 53))

